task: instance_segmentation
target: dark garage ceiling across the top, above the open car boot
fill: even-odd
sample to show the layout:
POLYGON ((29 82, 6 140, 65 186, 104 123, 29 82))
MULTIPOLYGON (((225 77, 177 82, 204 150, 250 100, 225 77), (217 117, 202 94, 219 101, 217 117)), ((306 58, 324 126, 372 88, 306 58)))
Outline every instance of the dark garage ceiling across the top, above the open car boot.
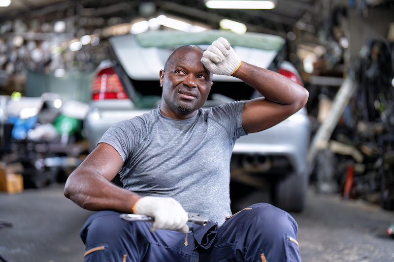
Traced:
MULTIPOLYGON (((203 0, 11 0, 9 7, 0 7, 0 24, 7 20, 39 18, 40 23, 80 17, 119 17, 130 23, 138 17, 149 18, 170 14, 219 28, 223 18, 246 24, 248 31, 277 34, 286 37, 289 31, 302 36, 303 41, 318 43, 319 29, 327 29, 333 20, 332 10, 353 4, 363 12, 367 6, 393 0, 276 0, 272 10, 209 9, 203 0), (141 12, 141 6, 153 3, 151 13, 141 12)), ((27 22, 25 21, 25 22, 27 22)), ((119 21, 119 20, 118 20, 119 21)))

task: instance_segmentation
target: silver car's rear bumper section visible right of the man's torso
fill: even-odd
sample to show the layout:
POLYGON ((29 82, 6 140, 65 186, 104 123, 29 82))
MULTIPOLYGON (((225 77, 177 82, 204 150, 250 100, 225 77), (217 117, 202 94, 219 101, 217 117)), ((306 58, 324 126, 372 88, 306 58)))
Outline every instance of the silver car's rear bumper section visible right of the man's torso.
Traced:
POLYGON ((232 168, 265 174, 306 173, 309 144, 310 121, 303 109, 267 130, 240 137, 233 148, 232 168))

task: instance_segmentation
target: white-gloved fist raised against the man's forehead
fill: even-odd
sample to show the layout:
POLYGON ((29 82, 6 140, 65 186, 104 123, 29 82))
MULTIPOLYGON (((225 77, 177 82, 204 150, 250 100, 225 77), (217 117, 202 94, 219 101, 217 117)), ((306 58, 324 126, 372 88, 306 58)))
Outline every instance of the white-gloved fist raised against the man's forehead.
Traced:
POLYGON ((202 54, 201 62, 211 73, 229 76, 239 68, 242 61, 235 54, 229 41, 219 37, 202 54))

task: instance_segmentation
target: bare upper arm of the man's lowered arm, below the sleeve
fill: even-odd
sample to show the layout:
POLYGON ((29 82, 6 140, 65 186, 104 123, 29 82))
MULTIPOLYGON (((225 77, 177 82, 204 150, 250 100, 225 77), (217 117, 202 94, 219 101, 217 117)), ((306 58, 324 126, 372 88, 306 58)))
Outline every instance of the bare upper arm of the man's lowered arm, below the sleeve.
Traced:
POLYGON ((111 181, 123 166, 123 159, 113 146, 100 143, 78 167, 111 181))

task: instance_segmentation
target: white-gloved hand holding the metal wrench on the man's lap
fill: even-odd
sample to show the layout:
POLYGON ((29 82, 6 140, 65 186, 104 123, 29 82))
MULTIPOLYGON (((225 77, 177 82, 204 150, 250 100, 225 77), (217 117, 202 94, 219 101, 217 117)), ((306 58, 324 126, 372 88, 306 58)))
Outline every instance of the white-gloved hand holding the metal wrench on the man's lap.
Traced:
POLYGON ((157 229, 168 229, 182 233, 189 231, 186 225, 188 214, 173 198, 143 197, 133 206, 134 214, 147 215, 155 219, 149 229, 151 232, 157 229))

